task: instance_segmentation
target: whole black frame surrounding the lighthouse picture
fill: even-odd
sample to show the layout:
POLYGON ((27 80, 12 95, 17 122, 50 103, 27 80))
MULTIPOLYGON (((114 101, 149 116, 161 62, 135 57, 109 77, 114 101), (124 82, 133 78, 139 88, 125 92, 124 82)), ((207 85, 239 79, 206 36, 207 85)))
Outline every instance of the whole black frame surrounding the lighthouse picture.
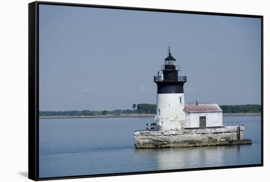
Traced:
POLYGON ((63 2, 47 2, 34 1, 28 4, 28 178, 34 181, 43 180, 59 180, 59 179, 75 179, 75 178, 91 178, 91 177, 106 177, 106 176, 120 176, 120 175, 136 175, 136 174, 151 174, 151 173, 167 173, 180 171, 197 171, 210 169, 227 169, 227 168, 243 168, 243 167, 258 167, 263 166, 263 16, 260 15, 244 15, 244 14, 228 14, 228 13, 212 13, 212 12, 198 12, 198 11, 183 11, 170 9, 153 9, 153 8, 138 8, 138 7, 123 7, 123 6, 108 6, 108 5, 93 5, 93 4, 76 4, 63 2), (66 177, 39 177, 39 5, 61 5, 61 6, 77 6, 77 7, 95 7, 105 9, 124 9, 136 11, 155 11, 155 12, 169 12, 169 13, 186 13, 186 14, 200 14, 200 15, 218 15, 218 16, 233 16, 233 17, 250 17, 261 19, 261 164, 252 165, 234 165, 234 166, 216 166, 203 167, 192 169, 174 169, 174 170, 160 170, 160 171, 144 171, 144 172, 127 172, 127 173, 113 173, 101 175, 82 175, 82 176, 66 176, 66 177))

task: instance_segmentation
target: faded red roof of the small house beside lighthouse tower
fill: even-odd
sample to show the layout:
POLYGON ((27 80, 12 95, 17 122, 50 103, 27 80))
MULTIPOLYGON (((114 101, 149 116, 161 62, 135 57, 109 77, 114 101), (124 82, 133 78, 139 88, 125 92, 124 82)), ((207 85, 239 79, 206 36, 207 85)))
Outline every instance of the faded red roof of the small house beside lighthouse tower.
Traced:
POLYGON ((185 112, 222 112, 218 104, 185 104, 185 112))

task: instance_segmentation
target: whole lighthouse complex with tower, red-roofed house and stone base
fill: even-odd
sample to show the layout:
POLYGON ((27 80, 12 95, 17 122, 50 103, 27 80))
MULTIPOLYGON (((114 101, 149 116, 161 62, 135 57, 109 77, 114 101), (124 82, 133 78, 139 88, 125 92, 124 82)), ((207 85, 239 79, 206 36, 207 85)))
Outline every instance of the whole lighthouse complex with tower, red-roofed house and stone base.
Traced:
POLYGON ((244 126, 223 126, 222 109, 218 104, 185 104, 186 76, 180 76, 179 66, 168 56, 154 76, 157 83, 156 123, 146 124, 146 130, 134 132, 136 149, 198 147, 215 145, 246 145, 244 126))

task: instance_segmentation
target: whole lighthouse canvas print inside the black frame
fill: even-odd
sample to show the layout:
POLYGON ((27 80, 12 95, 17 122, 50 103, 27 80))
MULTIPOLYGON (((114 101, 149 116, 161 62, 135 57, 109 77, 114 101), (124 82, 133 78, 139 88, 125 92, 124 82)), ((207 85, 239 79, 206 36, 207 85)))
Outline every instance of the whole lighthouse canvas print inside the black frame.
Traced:
POLYGON ((261 19, 39 4, 39 178, 261 164, 261 19))

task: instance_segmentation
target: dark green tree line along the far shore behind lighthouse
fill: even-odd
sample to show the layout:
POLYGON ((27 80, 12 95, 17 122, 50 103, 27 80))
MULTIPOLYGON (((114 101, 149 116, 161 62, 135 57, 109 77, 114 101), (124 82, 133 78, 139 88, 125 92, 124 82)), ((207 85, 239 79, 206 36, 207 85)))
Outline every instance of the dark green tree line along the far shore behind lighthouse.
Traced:
MULTIPOLYGON (((97 116, 97 115, 120 115, 120 114, 156 114, 156 104, 133 104, 133 109, 117 110, 70 110, 70 111, 39 111, 39 116, 97 116)), ((261 105, 220 105, 223 113, 261 113, 261 105)))

